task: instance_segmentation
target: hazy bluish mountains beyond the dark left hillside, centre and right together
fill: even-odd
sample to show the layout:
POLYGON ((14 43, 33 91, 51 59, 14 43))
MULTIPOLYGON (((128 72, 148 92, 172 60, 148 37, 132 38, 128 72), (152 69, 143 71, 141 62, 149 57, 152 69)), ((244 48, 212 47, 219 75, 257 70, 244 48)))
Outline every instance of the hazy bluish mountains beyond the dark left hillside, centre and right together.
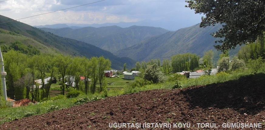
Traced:
POLYGON ((110 50, 118 57, 148 61, 170 58, 179 53, 195 53, 202 56, 207 50, 215 50, 213 46, 217 39, 212 37, 211 33, 220 28, 220 24, 206 28, 200 28, 199 24, 196 24, 177 31, 146 26, 40 29, 110 50))

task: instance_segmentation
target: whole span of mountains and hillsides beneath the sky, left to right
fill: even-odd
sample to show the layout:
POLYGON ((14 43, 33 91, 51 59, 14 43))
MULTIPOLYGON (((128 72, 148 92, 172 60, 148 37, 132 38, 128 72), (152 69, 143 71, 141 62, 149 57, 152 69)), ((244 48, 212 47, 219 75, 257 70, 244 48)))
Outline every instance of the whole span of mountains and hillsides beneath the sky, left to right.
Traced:
MULTIPOLYGON (((9 20, 11 19, 1 15, 1 22, 9 20)), ((23 44, 30 44, 43 53, 86 57, 104 56, 112 61, 114 69, 121 69, 123 63, 127 63, 127 67, 130 68, 134 67, 136 61, 157 58, 162 60, 180 53, 195 53, 202 56, 205 51, 213 49, 218 56, 220 51, 216 51, 213 47, 217 39, 212 37, 211 33, 218 31, 221 27, 218 24, 200 28, 199 24, 196 24, 177 31, 135 25, 128 28, 107 26, 38 29, 15 21, 0 24, 0 28, 19 34, 19 36, 1 34, 1 38, 4 37, 5 40, 0 40, 0 42, 2 41, 1 45, 10 44, 16 39, 23 39, 23 44), (9 40, 6 40, 7 38, 9 40)), ((237 51, 233 50, 230 55, 236 53, 237 51)))

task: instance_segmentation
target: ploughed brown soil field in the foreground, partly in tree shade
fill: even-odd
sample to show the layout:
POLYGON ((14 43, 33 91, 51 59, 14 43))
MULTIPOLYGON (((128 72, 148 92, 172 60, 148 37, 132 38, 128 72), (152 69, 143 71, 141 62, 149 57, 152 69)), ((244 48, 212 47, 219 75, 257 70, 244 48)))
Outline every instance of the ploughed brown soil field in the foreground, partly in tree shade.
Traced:
POLYGON ((192 124, 215 122, 218 125, 227 122, 260 122, 263 124, 261 129, 265 129, 264 76, 249 75, 220 84, 109 97, 82 106, 6 122, 0 128, 110 129, 108 123, 113 122, 169 121, 192 124))

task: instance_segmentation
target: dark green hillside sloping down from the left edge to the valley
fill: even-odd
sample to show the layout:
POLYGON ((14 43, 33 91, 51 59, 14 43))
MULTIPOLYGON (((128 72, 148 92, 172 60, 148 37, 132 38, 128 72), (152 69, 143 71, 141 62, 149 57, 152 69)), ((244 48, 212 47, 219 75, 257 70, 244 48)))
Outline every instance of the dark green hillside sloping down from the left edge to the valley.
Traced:
MULTIPOLYGON (((0 23, 12 20, 11 18, 0 15, 0 23)), ((104 56, 111 60, 112 68, 114 69, 121 69, 124 63, 127 63, 128 67, 133 67, 135 63, 135 61, 130 58, 120 58, 94 45, 60 37, 19 21, 0 24, 0 28, 0 45, 8 45, 12 41, 19 40, 23 44, 32 44, 33 47, 36 47, 44 53, 61 53, 86 57, 104 56)))

